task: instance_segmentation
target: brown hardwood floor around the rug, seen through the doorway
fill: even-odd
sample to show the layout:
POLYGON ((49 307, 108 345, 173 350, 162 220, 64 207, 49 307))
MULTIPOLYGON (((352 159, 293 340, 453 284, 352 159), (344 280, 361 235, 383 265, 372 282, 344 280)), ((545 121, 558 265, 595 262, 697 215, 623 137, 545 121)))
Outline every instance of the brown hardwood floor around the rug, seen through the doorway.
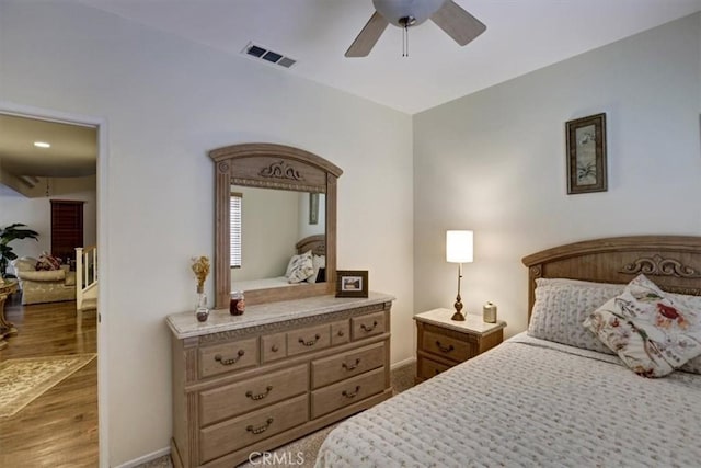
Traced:
MULTIPOLYGON (((95 311, 79 324, 76 303, 5 304, 18 335, 0 351, 0 362, 97 352, 95 311)), ((97 359, 66 378, 12 418, 0 418, 0 467, 96 467, 97 359)))

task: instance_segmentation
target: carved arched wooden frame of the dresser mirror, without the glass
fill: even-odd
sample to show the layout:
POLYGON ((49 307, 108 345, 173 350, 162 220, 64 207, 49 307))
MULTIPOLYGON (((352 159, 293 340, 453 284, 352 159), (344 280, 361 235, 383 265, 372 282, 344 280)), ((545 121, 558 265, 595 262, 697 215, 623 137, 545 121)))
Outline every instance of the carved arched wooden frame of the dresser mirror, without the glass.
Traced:
POLYGON ((232 184, 326 194, 326 282, 246 290, 246 300, 262 304, 332 294, 336 282, 336 181, 343 171, 309 151, 275 144, 232 145, 209 151, 209 157, 215 161, 215 307, 229 307, 232 184))

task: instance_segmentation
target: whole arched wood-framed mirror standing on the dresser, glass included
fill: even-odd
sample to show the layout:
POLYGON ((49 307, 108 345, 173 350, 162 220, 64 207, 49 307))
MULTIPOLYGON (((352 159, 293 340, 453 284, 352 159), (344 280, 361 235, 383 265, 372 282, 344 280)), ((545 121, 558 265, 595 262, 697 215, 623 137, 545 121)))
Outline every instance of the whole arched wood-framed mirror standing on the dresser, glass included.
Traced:
POLYGON ((215 307, 227 308, 231 290, 243 290, 249 304, 333 293, 336 180, 343 171, 311 152, 274 144, 228 146, 209 157, 216 189, 215 307), (307 259, 301 259, 304 269, 290 272, 299 254, 312 259, 309 277, 303 278, 307 259))

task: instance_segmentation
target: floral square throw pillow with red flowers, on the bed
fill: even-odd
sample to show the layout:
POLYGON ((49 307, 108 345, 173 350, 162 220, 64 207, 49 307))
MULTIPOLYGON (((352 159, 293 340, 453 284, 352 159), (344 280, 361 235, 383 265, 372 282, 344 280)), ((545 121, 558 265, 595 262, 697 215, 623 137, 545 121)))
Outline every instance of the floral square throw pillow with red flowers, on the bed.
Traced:
POLYGON ((644 275, 584 321, 634 373, 664 377, 701 355, 701 311, 681 309, 644 275))

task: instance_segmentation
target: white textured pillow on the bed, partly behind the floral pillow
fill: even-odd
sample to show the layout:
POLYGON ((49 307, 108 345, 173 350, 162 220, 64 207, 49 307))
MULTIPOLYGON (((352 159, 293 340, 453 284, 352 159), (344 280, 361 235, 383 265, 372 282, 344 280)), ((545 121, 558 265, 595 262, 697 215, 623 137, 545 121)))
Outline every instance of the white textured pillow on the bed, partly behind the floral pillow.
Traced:
POLYGON ((613 354, 582 322, 625 285, 564 278, 536 279, 536 301, 528 334, 541 340, 613 354))

